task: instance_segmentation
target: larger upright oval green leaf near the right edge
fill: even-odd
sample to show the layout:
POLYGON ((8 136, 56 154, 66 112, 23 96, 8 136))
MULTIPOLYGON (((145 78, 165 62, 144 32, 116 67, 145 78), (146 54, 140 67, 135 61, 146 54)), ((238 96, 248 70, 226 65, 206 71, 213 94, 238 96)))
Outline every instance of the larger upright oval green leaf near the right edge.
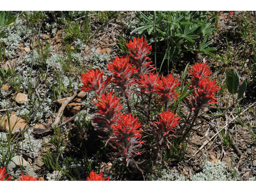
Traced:
POLYGON ((239 85, 239 74, 234 69, 230 69, 226 76, 226 86, 228 88, 228 92, 231 94, 235 94, 239 85))

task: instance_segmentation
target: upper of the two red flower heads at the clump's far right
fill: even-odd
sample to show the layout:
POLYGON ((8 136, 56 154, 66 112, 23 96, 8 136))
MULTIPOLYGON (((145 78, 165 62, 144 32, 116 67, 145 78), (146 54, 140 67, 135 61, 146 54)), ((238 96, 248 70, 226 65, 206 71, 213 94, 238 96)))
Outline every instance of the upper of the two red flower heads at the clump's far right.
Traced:
POLYGON ((207 78, 212 72, 209 70, 207 63, 197 63, 192 66, 192 70, 188 70, 192 74, 191 85, 197 87, 200 79, 207 78))

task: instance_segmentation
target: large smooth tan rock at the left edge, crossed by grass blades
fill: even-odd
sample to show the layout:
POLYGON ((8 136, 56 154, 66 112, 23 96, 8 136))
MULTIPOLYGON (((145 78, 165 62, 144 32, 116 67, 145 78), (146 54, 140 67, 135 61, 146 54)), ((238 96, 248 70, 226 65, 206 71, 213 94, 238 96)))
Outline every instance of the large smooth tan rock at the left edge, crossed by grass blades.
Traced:
POLYGON ((4 116, 1 120, 1 128, 4 132, 9 133, 10 129, 12 131, 12 134, 18 132, 19 130, 23 130, 26 128, 27 123, 24 119, 17 117, 15 115, 10 116, 10 127, 8 124, 8 117, 4 116))

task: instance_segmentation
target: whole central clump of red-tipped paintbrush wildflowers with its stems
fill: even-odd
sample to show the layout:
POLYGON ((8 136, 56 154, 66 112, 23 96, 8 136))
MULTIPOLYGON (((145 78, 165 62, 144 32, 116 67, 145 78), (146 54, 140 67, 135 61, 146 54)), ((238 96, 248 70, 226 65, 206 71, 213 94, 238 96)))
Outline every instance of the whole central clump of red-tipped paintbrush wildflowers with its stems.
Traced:
POLYGON ((189 70, 191 81, 179 92, 178 78, 153 72, 148 57, 152 48, 147 41, 133 38, 126 45, 129 56, 116 56, 108 64, 106 78, 100 70, 82 74, 82 90, 96 94, 93 104, 99 114, 93 122, 101 123, 99 130, 108 135, 106 143, 117 150, 114 158, 121 156, 121 164, 140 170, 138 164, 146 159, 156 164, 163 149, 172 146, 172 138, 177 138, 178 148, 188 140, 202 109, 217 103, 214 95, 220 88, 210 78, 212 72, 206 63, 198 63, 189 70), (182 112, 181 118, 174 107, 185 107, 189 113, 182 112))

